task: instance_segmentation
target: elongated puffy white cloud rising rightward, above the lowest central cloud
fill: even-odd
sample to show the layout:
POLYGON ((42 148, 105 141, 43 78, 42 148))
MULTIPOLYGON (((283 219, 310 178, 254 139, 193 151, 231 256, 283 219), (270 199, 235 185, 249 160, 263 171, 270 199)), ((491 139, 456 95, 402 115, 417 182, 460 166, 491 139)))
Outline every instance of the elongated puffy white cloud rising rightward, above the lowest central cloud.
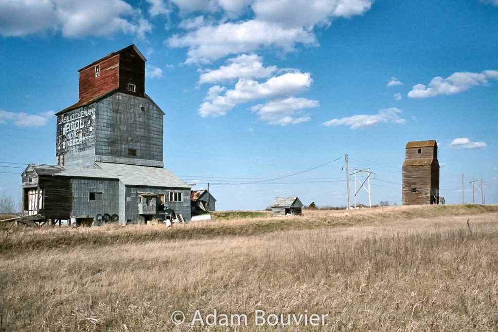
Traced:
POLYGON ((248 103, 260 99, 281 99, 300 93, 311 86, 313 79, 310 73, 285 73, 273 76, 264 83, 251 79, 239 79, 235 88, 227 90, 215 86, 209 89, 206 102, 201 104, 201 116, 225 115, 238 104, 248 103))

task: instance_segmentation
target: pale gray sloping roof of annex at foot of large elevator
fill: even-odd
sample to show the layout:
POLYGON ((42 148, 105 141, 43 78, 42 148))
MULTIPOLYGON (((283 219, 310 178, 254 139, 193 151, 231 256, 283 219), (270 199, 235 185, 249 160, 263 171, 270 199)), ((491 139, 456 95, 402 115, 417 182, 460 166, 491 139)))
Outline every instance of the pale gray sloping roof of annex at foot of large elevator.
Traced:
POLYGON ((118 177, 125 185, 170 188, 192 187, 165 168, 102 162, 97 162, 96 164, 107 173, 118 177))

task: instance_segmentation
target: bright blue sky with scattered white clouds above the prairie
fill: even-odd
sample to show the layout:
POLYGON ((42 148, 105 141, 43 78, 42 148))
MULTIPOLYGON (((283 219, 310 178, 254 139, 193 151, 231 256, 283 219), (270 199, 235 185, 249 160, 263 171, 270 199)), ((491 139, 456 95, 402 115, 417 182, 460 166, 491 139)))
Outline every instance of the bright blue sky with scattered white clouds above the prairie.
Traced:
POLYGON ((400 204, 404 146, 425 139, 448 203, 462 173, 467 202, 482 178, 498 203, 497 0, 0 0, 1 190, 20 196, 14 163, 55 163, 50 114, 78 100, 77 70, 130 43, 166 168, 219 209, 345 205, 344 159, 250 183, 345 153, 376 173, 373 203, 400 204))

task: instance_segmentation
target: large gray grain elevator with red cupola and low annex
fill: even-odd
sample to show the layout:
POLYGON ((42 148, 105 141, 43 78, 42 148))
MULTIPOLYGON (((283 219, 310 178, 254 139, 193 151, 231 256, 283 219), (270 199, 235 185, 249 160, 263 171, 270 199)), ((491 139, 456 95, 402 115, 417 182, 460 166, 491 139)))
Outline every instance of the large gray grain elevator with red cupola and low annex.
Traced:
POLYGON ((164 112, 145 94, 145 61, 129 45, 79 70, 79 101, 56 113, 57 165, 21 175, 23 216, 190 220, 192 186, 164 169, 164 112))

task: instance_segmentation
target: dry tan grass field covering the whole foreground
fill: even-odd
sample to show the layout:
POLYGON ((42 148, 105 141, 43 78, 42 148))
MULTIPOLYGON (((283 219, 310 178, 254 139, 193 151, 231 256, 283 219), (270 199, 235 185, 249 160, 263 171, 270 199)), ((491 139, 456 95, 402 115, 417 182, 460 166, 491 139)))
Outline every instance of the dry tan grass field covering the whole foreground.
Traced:
POLYGON ((224 214, 173 229, 2 227, 1 331, 498 329, 498 206, 224 214), (249 326, 170 322, 175 310, 189 320, 214 309, 247 314, 249 326), (328 317, 256 327, 255 310, 328 317))

